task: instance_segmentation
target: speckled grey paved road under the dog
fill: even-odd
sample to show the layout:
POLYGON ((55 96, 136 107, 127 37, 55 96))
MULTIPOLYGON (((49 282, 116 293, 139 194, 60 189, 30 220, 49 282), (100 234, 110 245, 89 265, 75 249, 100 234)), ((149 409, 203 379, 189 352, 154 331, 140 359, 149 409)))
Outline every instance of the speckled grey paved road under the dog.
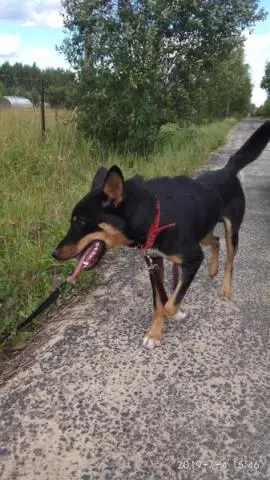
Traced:
MULTIPOLYGON (((210 168, 257 126, 242 122, 210 168)), ((218 298, 221 273, 211 281, 204 263, 188 317, 147 350, 144 264, 110 255, 98 288, 36 337, 2 386, 2 479, 269 480, 270 147, 243 183, 233 301, 218 298)))

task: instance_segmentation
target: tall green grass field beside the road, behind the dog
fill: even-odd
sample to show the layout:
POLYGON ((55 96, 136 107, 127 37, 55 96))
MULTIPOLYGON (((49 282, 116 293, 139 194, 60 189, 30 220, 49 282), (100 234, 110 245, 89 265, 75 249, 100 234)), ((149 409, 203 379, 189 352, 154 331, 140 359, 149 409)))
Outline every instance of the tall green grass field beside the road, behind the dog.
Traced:
MULTIPOLYGON (((235 120, 178 128, 167 125, 151 158, 95 152, 70 112, 46 112, 40 142, 39 112, 0 110, 0 332, 14 328, 71 270, 51 251, 65 234, 72 206, 89 189, 100 165, 117 163, 126 175, 190 173, 222 144, 235 120)), ((76 285, 88 288, 96 273, 76 285)))

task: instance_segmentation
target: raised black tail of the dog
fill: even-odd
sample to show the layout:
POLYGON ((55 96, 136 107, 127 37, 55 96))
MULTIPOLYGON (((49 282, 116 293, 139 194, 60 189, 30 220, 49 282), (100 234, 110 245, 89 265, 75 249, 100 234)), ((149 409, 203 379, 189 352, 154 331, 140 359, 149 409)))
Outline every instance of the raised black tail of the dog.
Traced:
POLYGON ((226 169, 237 174, 242 168, 256 160, 270 140, 270 121, 263 123, 244 145, 229 159, 226 169))

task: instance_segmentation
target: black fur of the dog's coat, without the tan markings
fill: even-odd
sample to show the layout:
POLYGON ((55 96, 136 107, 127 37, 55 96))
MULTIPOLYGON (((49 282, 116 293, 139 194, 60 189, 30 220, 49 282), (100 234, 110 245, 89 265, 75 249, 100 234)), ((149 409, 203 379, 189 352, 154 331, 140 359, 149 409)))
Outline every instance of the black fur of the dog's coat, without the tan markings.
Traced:
POLYGON ((238 245, 238 232, 245 212, 244 193, 236 174, 253 162, 270 138, 270 122, 265 122, 229 159, 225 167, 210 171, 193 180, 188 177, 162 177, 144 181, 133 177, 124 181, 118 167, 98 170, 92 190, 75 206, 67 236, 58 245, 74 244, 88 233, 100 230, 105 222, 120 230, 132 246, 145 242, 155 216, 156 198, 160 201, 160 225, 176 223, 161 232, 154 244, 165 256, 182 259, 182 287, 176 303, 180 303, 203 259, 200 241, 226 217, 232 225, 232 243, 238 245), (118 175, 123 199, 115 202, 104 192, 110 176, 118 175))

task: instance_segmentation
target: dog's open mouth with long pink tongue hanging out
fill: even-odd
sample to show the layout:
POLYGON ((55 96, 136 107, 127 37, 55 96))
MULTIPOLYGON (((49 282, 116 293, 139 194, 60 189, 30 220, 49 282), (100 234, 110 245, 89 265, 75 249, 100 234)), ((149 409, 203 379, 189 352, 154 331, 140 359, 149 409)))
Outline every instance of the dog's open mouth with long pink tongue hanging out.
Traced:
POLYGON ((67 278, 70 282, 82 270, 92 270, 102 259, 106 252, 106 244, 102 240, 92 240, 77 257, 77 263, 71 275, 67 278))

